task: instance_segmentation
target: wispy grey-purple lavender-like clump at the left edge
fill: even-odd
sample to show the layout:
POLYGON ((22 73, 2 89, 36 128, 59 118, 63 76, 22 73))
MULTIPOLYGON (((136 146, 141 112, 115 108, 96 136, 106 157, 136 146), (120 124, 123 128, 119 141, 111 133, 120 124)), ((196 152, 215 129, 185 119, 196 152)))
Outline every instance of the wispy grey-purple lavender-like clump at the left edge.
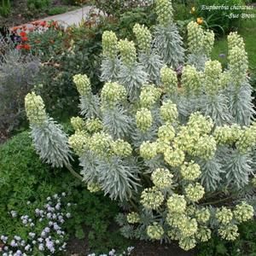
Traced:
POLYGON ((0 56, 0 129, 10 132, 24 121, 24 96, 32 90, 39 71, 39 61, 32 55, 23 55, 15 49, 12 42, 2 41, 2 47, 4 52, 0 56))

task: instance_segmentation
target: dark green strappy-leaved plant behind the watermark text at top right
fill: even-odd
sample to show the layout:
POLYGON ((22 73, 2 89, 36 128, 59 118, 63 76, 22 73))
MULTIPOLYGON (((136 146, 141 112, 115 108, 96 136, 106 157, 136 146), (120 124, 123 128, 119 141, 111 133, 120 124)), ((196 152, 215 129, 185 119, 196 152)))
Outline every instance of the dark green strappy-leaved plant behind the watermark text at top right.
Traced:
POLYGON ((236 29, 240 25, 242 9, 233 9, 233 6, 244 5, 243 0, 196 0, 195 7, 197 17, 202 17, 207 26, 222 35, 236 29), (226 9, 215 9, 223 6, 226 9), (209 10, 208 8, 213 8, 209 10), (238 15, 238 18, 230 15, 238 15))

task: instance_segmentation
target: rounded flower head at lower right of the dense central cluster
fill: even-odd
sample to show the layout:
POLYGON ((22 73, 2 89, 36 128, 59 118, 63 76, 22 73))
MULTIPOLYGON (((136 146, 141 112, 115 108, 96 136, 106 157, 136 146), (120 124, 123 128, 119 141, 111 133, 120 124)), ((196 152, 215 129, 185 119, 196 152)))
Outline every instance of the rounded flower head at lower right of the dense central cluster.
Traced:
POLYGON ((195 151, 193 155, 201 157, 202 159, 212 159, 217 149, 214 137, 203 135, 195 144, 195 151))

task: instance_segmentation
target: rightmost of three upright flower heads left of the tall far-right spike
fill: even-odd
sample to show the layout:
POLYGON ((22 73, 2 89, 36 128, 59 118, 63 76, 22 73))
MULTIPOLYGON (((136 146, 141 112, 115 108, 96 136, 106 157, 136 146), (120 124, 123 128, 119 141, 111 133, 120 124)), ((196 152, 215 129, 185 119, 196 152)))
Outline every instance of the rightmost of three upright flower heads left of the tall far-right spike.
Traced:
POLYGON ((222 67, 219 61, 207 61, 204 72, 204 87, 207 95, 217 95, 221 90, 220 76, 222 67))

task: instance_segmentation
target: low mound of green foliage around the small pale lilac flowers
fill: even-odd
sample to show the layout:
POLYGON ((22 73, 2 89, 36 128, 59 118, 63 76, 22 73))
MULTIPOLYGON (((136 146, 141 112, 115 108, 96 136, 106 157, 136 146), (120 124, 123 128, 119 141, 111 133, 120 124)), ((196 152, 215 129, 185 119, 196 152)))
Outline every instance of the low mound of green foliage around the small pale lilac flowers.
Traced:
MULTIPOLYGON (((31 244, 32 237, 29 233, 37 231, 37 234, 41 235, 39 230, 43 231, 46 227, 46 219, 40 221, 35 210, 38 208, 45 212, 45 200, 49 195, 60 196, 65 191, 65 198, 61 201, 63 207, 72 203, 72 206, 68 207, 72 218, 67 218, 65 223, 61 224, 62 231, 65 231, 61 238, 63 242, 67 242, 71 236, 79 239, 86 237, 90 250, 96 253, 129 245, 117 232, 109 231, 119 210, 117 204, 106 201, 100 192, 91 194, 79 180, 74 180, 67 170, 52 169, 42 164, 32 146, 29 132, 21 132, 1 145, 0 170, 0 236, 3 235, 4 240, 8 236, 6 242, 10 243, 12 238, 20 236, 26 244, 31 244), (34 219, 35 226, 22 224, 18 216, 29 216, 34 219)), ((55 201, 54 197, 51 198, 52 202, 55 201)), ((2 244, 3 242, 1 247, 2 244)))

